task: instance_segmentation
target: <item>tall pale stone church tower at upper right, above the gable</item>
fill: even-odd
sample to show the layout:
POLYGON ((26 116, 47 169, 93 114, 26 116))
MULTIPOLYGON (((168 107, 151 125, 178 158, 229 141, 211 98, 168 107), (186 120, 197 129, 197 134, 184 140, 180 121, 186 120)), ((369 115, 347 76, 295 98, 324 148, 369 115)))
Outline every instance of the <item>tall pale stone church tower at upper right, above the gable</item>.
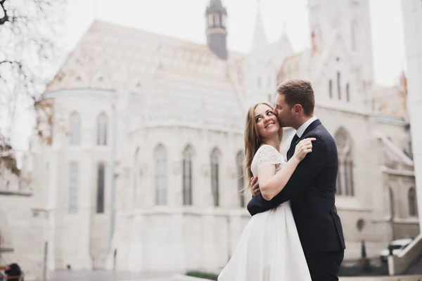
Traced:
MULTIPOLYGON (((322 55, 338 37, 343 40, 356 77, 354 91, 370 103, 373 55, 369 0, 308 0, 312 53, 322 55)), ((341 58, 339 58, 341 59, 341 58)))

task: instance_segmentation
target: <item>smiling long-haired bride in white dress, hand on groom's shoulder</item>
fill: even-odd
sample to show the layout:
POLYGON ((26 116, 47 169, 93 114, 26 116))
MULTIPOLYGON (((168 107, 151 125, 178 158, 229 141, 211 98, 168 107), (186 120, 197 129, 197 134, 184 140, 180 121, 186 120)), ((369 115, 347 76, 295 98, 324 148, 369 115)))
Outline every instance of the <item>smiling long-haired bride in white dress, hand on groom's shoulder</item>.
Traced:
MULTIPOLYGON (((300 141, 295 155, 286 162, 279 152, 282 137, 283 129, 270 105, 250 107, 245 125, 245 171, 248 178, 258 176, 265 200, 284 188, 315 140, 300 141)), ((290 202, 250 218, 218 281, 311 281, 290 202)))

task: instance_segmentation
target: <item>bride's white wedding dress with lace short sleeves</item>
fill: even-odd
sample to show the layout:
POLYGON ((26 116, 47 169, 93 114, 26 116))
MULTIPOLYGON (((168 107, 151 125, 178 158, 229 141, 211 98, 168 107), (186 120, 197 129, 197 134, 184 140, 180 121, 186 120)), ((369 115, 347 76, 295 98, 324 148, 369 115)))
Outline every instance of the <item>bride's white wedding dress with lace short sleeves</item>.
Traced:
MULTIPOLYGON (((271 145, 262 145, 252 160, 257 176, 260 165, 286 163, 271 145)), ((296 230, 290 202, 250 218, 234 254, 218 281, 311 281, 296 230)))

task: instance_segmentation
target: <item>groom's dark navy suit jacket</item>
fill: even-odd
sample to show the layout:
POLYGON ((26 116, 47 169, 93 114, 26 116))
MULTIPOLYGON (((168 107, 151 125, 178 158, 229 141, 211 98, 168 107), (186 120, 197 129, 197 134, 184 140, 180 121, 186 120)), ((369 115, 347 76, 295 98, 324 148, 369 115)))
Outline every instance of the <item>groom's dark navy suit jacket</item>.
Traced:
MULTIPOLYGON (((290 200, 305 254, 343 250, 343 228, 335 209, 337 146, 319 119, 309 124, 300 137, 303 138, 316 138, 316 141, 312 142, 312 152, 300 162, 285 188, 270 201, 261 193, 255 195, 248 203, 248 211, 253 216, 290 200)), ((292 142, 288 159, 294 152, 292 142)))

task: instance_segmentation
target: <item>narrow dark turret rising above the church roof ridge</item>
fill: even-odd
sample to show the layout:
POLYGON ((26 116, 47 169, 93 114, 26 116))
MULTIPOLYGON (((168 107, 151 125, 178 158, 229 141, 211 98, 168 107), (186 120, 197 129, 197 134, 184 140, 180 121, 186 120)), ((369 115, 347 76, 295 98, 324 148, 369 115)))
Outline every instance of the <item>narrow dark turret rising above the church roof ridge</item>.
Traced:
POLYGON ((207 45, 222 60, 227 60, 227 11, 221 0, 210 0, 205 13, 207 20, 207 45))

